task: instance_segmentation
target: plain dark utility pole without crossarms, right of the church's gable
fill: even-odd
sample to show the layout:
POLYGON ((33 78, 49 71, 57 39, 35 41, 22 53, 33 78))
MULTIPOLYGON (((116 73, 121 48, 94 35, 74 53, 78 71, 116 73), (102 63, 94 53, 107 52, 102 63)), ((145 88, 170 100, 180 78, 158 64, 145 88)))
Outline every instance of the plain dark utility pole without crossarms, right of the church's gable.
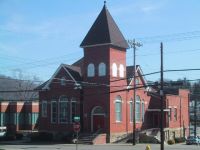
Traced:
POLYGON ((160 150, 164 150, 164 130, 163 130, 163 120, 164 120, 164 114, 163 114, 163 101, 164 101, 164 92, 163 92, 163 43, 160 44, 160 52, 161 52, 161 72, 160 72, 160 111, 161 111, 161 121, 160 121, 160 150))

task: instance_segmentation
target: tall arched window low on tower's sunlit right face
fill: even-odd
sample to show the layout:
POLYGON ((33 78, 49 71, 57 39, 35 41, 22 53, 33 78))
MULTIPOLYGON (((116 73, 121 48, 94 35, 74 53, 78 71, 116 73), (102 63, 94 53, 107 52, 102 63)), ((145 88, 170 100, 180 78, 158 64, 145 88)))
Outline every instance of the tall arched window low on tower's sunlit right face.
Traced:
POLYGON ((116 122, 122 121, 122 99, 121 99, 121 96, 117 96, 115 99, 115 119, 116 119, 116 122))

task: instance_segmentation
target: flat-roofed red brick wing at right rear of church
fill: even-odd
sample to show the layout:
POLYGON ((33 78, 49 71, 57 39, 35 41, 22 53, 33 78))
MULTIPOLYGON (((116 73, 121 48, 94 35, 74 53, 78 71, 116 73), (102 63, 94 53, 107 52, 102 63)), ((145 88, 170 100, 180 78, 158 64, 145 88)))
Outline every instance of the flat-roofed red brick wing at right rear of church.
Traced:
MULTIPOLYGON (((148 128, 159 128, 160 122, 160 98, 155 92, 149 92, 152 96, 147 110, 148 128)), ((189 90, 164 89, 164 132, 165 139, 174 139, 189 135, 189 90)))

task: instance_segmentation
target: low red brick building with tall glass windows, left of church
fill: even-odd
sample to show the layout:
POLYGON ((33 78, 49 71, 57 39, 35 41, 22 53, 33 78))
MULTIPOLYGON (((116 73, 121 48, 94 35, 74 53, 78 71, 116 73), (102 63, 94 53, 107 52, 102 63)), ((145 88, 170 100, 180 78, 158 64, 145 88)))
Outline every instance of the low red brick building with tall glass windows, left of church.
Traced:
POLYGON ((0 126, 9 132, 34 130, 38 121, 38 101, 1 101, 0 126))

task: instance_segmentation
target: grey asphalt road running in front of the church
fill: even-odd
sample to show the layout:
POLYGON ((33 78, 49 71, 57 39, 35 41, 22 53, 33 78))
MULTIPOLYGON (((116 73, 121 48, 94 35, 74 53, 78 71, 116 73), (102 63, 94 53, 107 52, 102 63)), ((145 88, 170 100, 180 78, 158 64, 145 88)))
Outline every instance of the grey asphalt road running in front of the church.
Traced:
MULTIPOLYGON (((132 146, 130 144, 106 144, 106 145, 78 145, 78 150, 145 150, 148 144, 137 144, 132 146)), ((159 150, 159 144, 150 144, 151 150, 159 150)), ((46 145, 0 145, 0 150, 76 150, 74 144, 46 144, 46 145)), ((165 150, 200 150, 200 146, 196 145, 165 145, 165 150)))

